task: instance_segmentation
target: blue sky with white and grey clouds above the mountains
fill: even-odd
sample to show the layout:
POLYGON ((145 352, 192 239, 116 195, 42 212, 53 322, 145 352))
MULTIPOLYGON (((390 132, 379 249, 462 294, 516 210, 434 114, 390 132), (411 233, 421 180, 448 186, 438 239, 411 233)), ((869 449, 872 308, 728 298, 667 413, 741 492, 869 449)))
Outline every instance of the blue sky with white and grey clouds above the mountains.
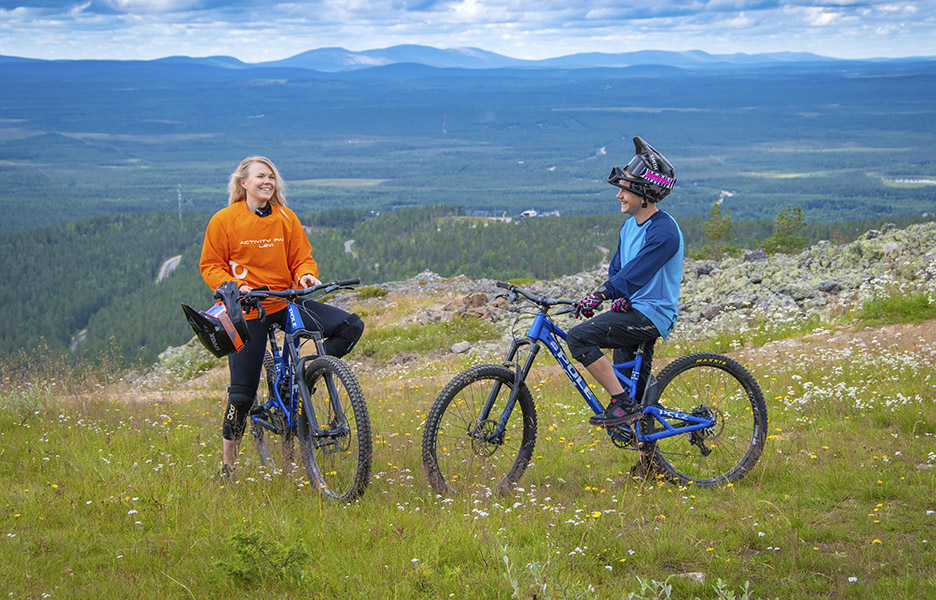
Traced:
POLYGON ((30 58, 260 62, 397 44, 525 59, 648 49, 936 56, 936 1, 0 0, 0 54, 30 58))

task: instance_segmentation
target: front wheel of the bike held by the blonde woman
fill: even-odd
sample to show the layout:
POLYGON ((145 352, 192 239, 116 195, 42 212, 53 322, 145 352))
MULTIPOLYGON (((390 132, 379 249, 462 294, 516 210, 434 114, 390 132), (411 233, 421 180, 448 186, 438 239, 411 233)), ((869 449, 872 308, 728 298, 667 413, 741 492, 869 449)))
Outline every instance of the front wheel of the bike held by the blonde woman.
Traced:
POLYGON ((310 406, 303 399, 296 434, 309 481, 324 495, 350 502, 364 493, 370 481, 373 447, 364 393, 347 363, 334 356, 312 360, 303 376, 310 406), (329 380, 337 394, 338 411, 332 404, 329 380), (310 414, 332 433, 314 435, 310 414))

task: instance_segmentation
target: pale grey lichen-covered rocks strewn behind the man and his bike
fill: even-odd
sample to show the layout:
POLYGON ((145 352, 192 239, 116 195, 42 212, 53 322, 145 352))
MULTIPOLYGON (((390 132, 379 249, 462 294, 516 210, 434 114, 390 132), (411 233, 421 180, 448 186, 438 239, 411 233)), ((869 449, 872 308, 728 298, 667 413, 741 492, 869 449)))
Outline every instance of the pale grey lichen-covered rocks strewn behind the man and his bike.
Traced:
MULTIPOLYGON (((578 299, 605 280, 607 265, 585 273, 525 286, 553 298, 578 299)), ((432 306, 411 322, 433 322, 456 314, 489 320, 507 318, 503 293, 488 279, 443 278, 426 271, 381 284, 390 291, 448 294, 455 299, 432 306)), ((856 241, 822 241, 796 254, 767 256, 762 250, 721 261, 687 259, 680 317, 674 335, 783 325, 817 315, 829 319, 860 305, 874 293, 932 289, 936 297, 936 223, 899 230, 885 225, 856 241)))

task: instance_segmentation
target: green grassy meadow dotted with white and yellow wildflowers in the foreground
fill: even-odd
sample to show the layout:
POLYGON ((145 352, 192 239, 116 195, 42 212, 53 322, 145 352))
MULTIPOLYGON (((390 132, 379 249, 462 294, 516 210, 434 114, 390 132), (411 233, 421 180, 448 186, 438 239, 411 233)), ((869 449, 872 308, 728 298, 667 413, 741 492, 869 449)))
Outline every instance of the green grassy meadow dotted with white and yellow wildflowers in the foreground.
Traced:
POLYGON ((453 500, 431 492, 419 443, 466 360, 358 365, 375 454, 351 505, 320 498, 301 468, 264 469, 249 446, 240 480, 219 480, 223 370, 158 402, 113 396, 119 382, 69 392, 7 378, 0 592, 932 598, 936 346, 933 322, 914 327, 820 330, 737 354, 764 390, 770 436, 747 478, 714 490, 630 478, 634 451, 589 427, 545 366, 528 380, 539 431, 520 486, 453 500))

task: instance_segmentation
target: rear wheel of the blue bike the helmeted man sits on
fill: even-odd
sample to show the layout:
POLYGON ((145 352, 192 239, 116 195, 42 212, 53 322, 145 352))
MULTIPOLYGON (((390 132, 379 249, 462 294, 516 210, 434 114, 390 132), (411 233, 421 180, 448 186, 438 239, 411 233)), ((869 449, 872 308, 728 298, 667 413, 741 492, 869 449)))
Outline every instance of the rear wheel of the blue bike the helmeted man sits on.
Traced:
MULTIPOLYGON (((696 353, 668 364, 657 381, 662 407, 718 417, 715 426, 696 434, 645 444, 643 451, 652 456, 658 472, 683 485, 706 488, 738 481, 754 467, 767 440, 767 407, 747 369, 727 356, 696 353)), ((655 425, 655 420, 643 419, 642 433, 659 431, 655 425)))

